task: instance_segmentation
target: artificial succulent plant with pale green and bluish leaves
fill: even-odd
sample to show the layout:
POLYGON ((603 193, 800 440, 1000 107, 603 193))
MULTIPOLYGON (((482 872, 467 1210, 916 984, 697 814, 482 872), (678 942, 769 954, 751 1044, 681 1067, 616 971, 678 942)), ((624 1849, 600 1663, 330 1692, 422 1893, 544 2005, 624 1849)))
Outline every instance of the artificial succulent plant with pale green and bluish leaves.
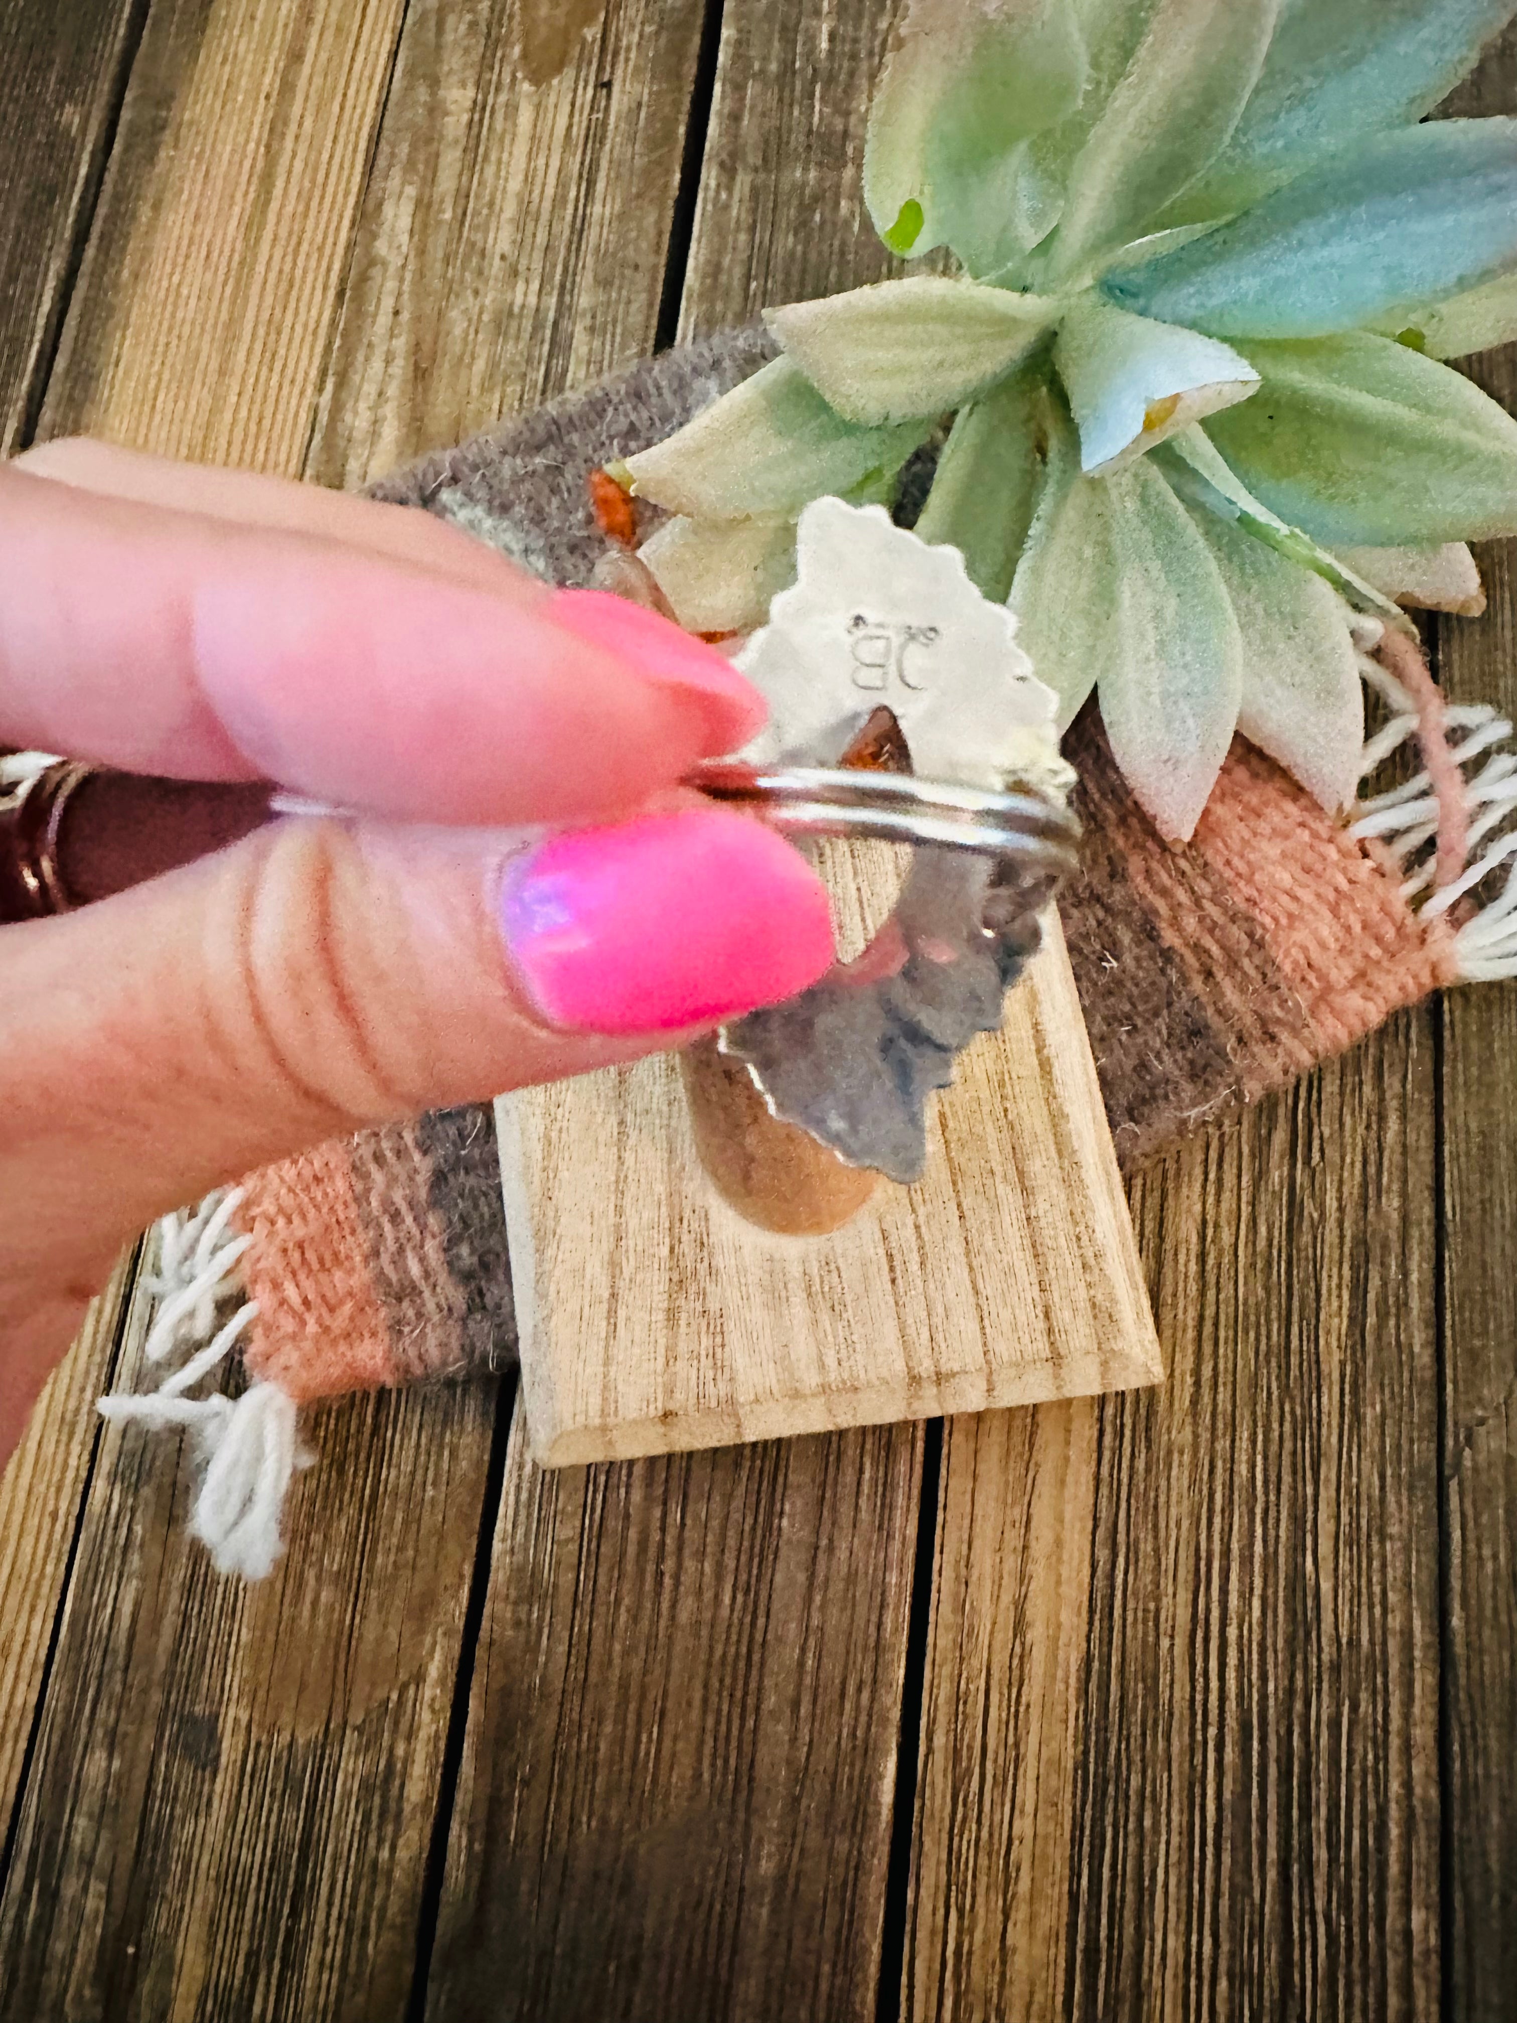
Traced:
POLYGON ((678 615, 761 623, 799 510, 941 441, 918 534, 1167 835, 1234 732, 1349 801, 1357 615, 1481 609, 1464 542, 1517 532, 1517 423, 1440 364, 1517 336, 1517 119, 1424 123, 1515 12, 912 0, 866 200, 957 271, 767 312, 779 356, 621 467, 678 615))

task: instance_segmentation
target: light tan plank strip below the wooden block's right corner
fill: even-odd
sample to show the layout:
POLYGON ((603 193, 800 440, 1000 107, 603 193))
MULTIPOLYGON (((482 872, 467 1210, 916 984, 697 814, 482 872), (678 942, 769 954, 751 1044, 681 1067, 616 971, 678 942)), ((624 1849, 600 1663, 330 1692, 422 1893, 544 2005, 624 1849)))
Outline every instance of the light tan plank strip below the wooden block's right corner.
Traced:
POLYGON ((1062 2013, 1096 1432, 1090 1398, 945 1426, 908 2017, 1062 2013))

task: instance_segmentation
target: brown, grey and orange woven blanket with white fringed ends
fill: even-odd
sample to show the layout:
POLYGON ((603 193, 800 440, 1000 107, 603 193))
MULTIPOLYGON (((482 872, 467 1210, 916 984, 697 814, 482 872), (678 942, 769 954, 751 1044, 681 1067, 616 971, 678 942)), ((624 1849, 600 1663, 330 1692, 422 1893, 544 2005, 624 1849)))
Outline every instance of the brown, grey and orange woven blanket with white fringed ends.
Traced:
MULTIPOLYGON (((544 579, 589 583, 607 552, 591 473, 670 435, 767 356, 759 330, 667 352, 374 494, 439 514, 544 579)), ((1473 848, 1475 757, 1511 726, 1493 710, 1444 710, 1410 647, 1402 666, 1365 674, 1384 704, 1367 773, 1416 740, 1422 771, 1402 753, 1400 783, 1347 823, 1240 738, 1193 842, 1175 848, 1125 789, 1094 704, 1066 740, 1084 846, 1060 912, 1129 1171, 1398 1007, 1507 961, 1491 941, 1503 927, 1446 904, 1446 872, 1450 831, 1456 872, 1473 848)), ((1481 874, 1473 866, 1456 884, 1481 874)), ((295 1406, 514 1357, 492 1111, 364 1131, 249 1175, 166 1228, 160 1285, 170 1301, 152 1353, 218 1325, 253 1380, 237 1402, 241 1459, 212 1455, 196 1523, 218 1564, 259 1574, 277 1535, 243 1523, 237 1497, 253 1477, 287 1475, 295 1406), (220 1519, 206 1509, 216 1497, 220 1519)), ((178 1422, 194 1402, 180 1404, 178 1422)))

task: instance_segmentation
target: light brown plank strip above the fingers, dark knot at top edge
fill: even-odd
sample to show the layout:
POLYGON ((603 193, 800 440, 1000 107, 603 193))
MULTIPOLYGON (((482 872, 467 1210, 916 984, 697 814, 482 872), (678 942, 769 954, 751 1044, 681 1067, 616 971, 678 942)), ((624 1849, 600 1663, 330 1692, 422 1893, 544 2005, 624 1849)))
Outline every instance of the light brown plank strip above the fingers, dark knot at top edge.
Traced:
POLYGON ((415 0, 307 475, 362 486, 651 348, 700 22, 415 0), (526 89, 518 47, 536 77, 570 26, 526 89))

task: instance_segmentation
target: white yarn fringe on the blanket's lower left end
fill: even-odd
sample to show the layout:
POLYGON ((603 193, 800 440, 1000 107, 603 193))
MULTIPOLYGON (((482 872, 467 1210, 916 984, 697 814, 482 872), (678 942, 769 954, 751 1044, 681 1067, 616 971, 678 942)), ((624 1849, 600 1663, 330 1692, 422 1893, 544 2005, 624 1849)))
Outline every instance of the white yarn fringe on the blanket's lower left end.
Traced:
POLYGON ((144 1357, 184 1361, 158 1390, 99 1400, 105 1418, 138 1426, 178 1426, 194 1438, 200 1489, 190 1533, 208 1548, 218 1572, 263 1580, 283 1552, 279 1519, 297 1467, 307 1459, 295 1432, 295 1400, 277 1384, 253 1384, 241 1398, 190 1398, 243 1339, 259 1311, 237 1297, 237 1264, 251 1236, 227 1236, 241 1188, 208 1194, 188 1212, 158 1224, 158 1272, 148 1291, 160 1301, 144 1357))

